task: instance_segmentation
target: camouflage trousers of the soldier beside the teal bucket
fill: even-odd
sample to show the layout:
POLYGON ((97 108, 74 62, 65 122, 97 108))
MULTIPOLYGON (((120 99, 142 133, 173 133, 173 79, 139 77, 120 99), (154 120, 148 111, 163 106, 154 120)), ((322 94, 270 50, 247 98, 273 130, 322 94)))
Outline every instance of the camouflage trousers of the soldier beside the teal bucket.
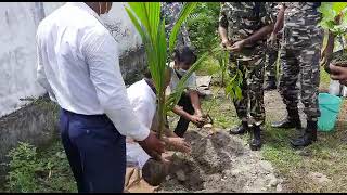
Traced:
POLYGON ((308 120, 316 121, 320 116, 318 105, 320 83, 320 49, 321 43, 313 43, 296 49, 282 47, 280 62, 282 73, 280 78, 280 93, 287 110, 297 110, 298 93, 305 105, 304 113, 308 120), (299 89, 296 82, 299 80, 299 89))

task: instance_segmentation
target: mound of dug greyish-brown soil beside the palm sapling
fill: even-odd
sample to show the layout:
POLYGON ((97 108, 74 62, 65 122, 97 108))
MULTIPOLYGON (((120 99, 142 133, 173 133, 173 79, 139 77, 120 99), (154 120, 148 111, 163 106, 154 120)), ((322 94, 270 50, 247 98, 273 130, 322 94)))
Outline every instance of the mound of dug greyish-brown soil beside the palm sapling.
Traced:
POLYGON ((281 191, 270 162, 259 152, 226 131, 209 134, 191 130, 184 135, 191 155, 177 153, 170 174, 158 192, 275 192, 281 191))

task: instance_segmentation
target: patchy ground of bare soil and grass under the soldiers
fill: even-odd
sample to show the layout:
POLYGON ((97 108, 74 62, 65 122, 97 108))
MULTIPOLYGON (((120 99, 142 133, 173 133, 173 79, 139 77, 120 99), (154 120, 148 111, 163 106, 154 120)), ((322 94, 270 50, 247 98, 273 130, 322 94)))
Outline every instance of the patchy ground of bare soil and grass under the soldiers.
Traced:
MULTIPOLYGON (((321 90, 329 84, 323 82, 321 90)), ((214 87, 216 93, 219 87, 214 87)), ((294 129, 271 128, 272 121, 286 115, 278 91, 265 94, 267 122, 261 132, 264 147, 253 152, 249 135, 229 135, 237 125, 234 107, 219 90, 216 99, 203 101, 204 109, 215 119, 218 133, 190 126, 192 156, 178 156, 175 169, 159 192, 345 192, 347 190, 347 104, 343 104, 335 130, 319 132, 319 141, 304 150, 293 150, 294 129), (182 166, 183 165, 183 166, 182 166)), ((303 126, 306 126, 299 104, 303 126)), ((177 118, 171 117, 171 125, 177 118)))

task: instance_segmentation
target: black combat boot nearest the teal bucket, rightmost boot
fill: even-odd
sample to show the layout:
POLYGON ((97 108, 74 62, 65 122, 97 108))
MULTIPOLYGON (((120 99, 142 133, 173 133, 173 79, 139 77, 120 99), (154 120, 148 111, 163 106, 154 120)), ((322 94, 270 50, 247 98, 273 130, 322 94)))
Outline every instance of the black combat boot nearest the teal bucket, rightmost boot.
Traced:
POLYGON ((308 120, 307 128, 305 129, 304 135, 298 139, 293 139, 291 141, 292 146, 308 146, 312 142, 317 141, 317 121, 308 120))

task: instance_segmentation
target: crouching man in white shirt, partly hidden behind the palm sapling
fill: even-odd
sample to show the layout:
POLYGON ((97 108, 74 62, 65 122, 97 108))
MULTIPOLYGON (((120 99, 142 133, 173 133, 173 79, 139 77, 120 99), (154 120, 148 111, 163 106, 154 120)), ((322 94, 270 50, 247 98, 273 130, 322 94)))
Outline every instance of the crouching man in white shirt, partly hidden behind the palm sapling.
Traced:
MULTIPOLYGON (((171 68, 167 68, 165 87, 167 87, 170 82, 170 74, 171 68)), ((127 89, 127 92, 133 112, 140 121, 151 130, 157 131, 158 122, 156 117, 156 89, 149 68, 146 68, 144 73, 144 79, 131 84, 127 89)), ((169 129, 165 129, 165 135, 163 136, 163 140, 165 141, 166 146, 172 148, 174 151, 180 151, 183 153, 190 153, 191 151, 191 146, 184 141, 184 139, 179 138, 169 129)), ((151 159, 150 155, 131 139, 127 139, 126 148, 127 165, 132 169, 142 170, 142 177, 144 181, 151 185, 158 185, 165 180, 165 177, 169 173, 168 171, 170 161, 167 158, 170 158, 170 154, 165 154, 168 155, 167 158, 158 157, 159 160, 151 159)), ((129 177, 131 176, 132 174, 128 176, 126 181, 130 181, 129 177)), ((128 187, 129 185, 126 186, 126 188, 128 187)))

